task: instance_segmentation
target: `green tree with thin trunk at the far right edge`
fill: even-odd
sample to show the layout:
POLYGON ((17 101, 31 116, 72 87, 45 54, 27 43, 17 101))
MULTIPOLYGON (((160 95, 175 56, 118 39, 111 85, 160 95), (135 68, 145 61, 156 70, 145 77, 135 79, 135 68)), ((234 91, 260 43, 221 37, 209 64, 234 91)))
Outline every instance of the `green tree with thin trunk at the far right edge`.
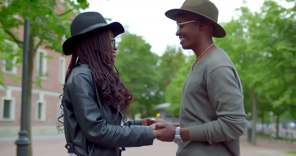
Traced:
POLYGON ((280 115, 290 109, 292 114, 296 103, 294 93, 296 92, 296 18, 295 3, 290 2, 291 7, 285 8, 275 1, 266 0, 261 8, 260 28, 263 32, 254 33, 254 37, 263 39, 265 67, 268 78, 266 79, 261 92, 271 99, 273 112, 276 117, 276 136, 278 137, 278 123, 280 115), (266 34, 265 34, 266 33, 266 34))

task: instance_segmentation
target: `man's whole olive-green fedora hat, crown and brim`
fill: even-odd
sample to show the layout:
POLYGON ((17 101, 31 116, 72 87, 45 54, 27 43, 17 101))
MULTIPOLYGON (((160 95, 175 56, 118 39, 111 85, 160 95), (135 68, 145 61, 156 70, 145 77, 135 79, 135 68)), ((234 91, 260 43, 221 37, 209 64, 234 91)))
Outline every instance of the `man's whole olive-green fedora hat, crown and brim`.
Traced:
POLYGON ((214 25, 213 36, 224 37, 225 30, 218 24, 218 8, 210 0, 185 0, 181 8, 168 10, 166 16, 176 20, 178 14, 187 14, 207 19, 214 25))

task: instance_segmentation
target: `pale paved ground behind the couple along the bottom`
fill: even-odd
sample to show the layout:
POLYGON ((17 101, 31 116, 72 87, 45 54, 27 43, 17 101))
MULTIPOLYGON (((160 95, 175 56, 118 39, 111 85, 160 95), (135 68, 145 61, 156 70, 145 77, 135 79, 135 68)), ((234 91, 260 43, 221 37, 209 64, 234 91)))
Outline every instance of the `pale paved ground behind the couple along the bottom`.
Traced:
MULTIPOLYGON (((0 138, 0 155, 15 156, 17 138, 0 138)), ((33 156, 67 156, 64 135, 33 137, 33 156)), ((161 142, 155 140, 151 146, 130 147, 122 153, 123 156, 151 156, 151 155, 176 155, 177 145, 173 142, 161 142)), ((270 142, 257 139, 257 145, 253 146, 241 137, 242 156, 288 156, 282 151, 296 151, 296 144, 286 142, 270 142)))

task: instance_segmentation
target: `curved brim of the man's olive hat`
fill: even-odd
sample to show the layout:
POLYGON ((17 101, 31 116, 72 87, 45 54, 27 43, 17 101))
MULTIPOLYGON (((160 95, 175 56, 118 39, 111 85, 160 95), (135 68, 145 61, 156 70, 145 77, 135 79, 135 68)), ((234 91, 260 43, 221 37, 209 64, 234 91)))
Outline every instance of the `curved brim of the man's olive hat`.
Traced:
POLYGON ((213 37, 222 38, 222 37, 225 37, 225 35, 226 35, 226 32, 225 32, 224 28, 221 25, 219 25, 216 21, 212 20, 211 18, 209 18, 208 16, 206 16, 204 14, 194 12, 194 11, 191 11, 191 10, 187 10, 187 9, 182 9, 182 8, 170 9, 165 13, 165 15, 168 18, 171 18, 173 20, 176 20, 178 14, 188 14, 188 15, 193 15, 193 16, 205 17, 214 26, 213 37))

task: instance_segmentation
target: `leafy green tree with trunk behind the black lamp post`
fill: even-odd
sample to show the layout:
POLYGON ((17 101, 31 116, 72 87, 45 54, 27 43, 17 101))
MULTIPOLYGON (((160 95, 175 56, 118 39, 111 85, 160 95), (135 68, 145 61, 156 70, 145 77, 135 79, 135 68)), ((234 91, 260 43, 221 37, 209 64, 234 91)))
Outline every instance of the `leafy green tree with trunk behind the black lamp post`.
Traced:
MULTIPOLYGON (((33 58, 37 49, 45 45, 47 49, 53 49, 57 52, 62 51, 62 38, 69 37, 70 24, 66 22, 69 17, 79 12, 79 9, 88 7, 86 0, 4 0, 0 4, 0 26, 1 32, 6 33, 4 38, 0 38, 0 46, 3 46, 3 40, 7 39, 15 42, 20 48, 23 48, 23 38, 17 28, 22 28, 24 19, 30 20, 29 35, 29 60, 28 60, 28 107, 26 129, 28 137, 32 140, 31 134, 31 96, 33 84, 33 58), (60 7, 57 7, 59 5, 60 7), (61 9, 62 8, 62 9, 61 9), (75 12, 75 13, 74 13, 75 12)), ((0 33, 1 33, 0 32, 0 33)), ((19 58, 22 57, 19 55, 19 58)), ((42 80, 40 75, 36 77, 36 84, 41 87, 42 80)), ((29 155, 32 155, 32 143, 29 145, 29 155)))

